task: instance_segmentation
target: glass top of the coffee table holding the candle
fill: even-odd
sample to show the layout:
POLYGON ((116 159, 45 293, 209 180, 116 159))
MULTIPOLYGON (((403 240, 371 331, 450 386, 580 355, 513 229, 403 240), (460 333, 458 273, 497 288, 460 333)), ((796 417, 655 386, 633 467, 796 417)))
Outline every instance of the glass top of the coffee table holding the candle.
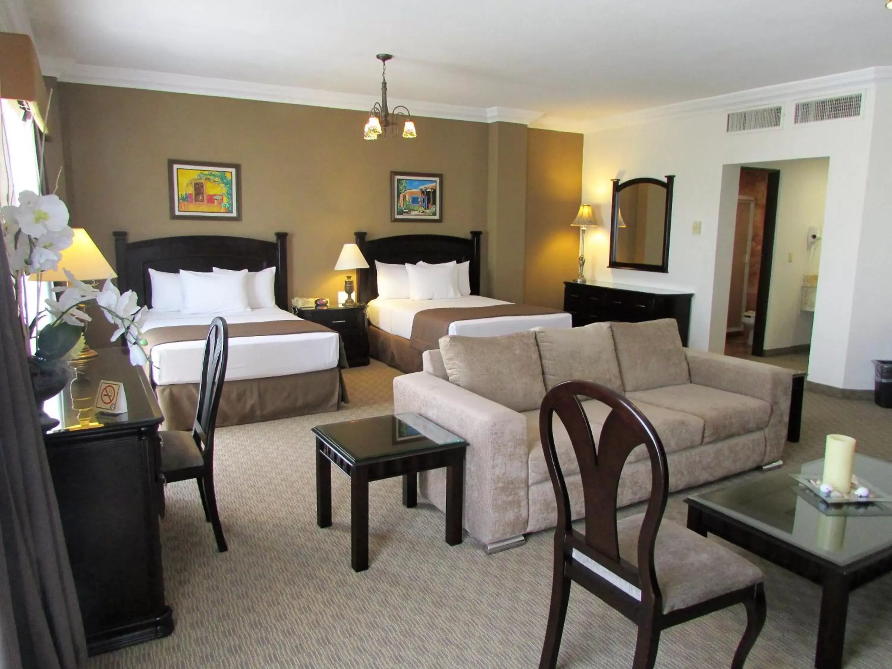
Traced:
MULTIPOLYGON (((805 494, 812 493, 789 475, 820 477, 822 470, 823 460, 814 460, 795 470, 764 475, 689 500, 838 565, 849 565, 892 547, 892 505, 863 505, 863 509, 853 509, 847 516, 828 516, 805 499, 805 494), (874 515, 878 512, 882 515, 874 515)), ((855 475, 862 483, 892 492, 892 463, 855 455, 855 475)))

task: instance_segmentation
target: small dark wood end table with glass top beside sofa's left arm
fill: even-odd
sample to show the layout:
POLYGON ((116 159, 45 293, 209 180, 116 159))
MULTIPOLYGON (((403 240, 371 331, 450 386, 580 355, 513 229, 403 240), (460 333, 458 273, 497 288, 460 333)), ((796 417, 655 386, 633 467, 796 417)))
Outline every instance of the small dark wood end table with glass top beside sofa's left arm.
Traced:
POLYGON ((332 524, 331 463, 350 476, 351 565, 368 569, 368 483, 402 475, 402 502, 417 505, 417 473, 446 467, 446 543, 461 543, 467 442, 417 414, 317 425, 316 515, 332 524))

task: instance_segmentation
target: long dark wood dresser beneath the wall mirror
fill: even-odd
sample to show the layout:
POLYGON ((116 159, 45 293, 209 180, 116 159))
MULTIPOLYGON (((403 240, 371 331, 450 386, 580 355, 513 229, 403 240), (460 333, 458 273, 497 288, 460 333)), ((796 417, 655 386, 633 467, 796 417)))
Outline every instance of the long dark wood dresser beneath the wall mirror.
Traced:
POLYGON ((574 327, 605 320, 639 323, 674 318, 678 321, 683 346, 688 345, 693 296, 693 293, 640 285, 564 282, 564 310, 573 316, 574 327))

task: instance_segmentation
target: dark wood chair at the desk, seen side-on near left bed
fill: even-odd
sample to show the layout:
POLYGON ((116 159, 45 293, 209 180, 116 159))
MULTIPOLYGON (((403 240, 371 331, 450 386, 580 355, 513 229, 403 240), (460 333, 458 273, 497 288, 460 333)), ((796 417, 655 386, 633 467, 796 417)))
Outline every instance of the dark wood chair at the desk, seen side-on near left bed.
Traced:
POLYGON ((217 494, 214 491, 214 424, 223 381, 226 378, 229 334, 226 321, 214 318, 204 343, 202 381, 198 387, 198 407, 190 432, 161 432, 161 473, 165 483, 195 479, 198 494, 202 498, 204 519, 211 523, 217 549, 227 550, 223 527, 217 512, 217 494))

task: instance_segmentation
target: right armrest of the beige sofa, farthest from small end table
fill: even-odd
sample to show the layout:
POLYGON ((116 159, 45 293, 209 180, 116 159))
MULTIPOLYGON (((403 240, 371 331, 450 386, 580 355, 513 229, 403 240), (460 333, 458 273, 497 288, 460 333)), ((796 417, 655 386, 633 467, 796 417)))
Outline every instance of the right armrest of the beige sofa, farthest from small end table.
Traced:
POLYGON ((685 353, 690 383, 748 395, 772 406, 772 417, 765 428, 764 464, 780 459, 787 442, 793 370, 720 353, 690 349, 685 349, 685 353))

